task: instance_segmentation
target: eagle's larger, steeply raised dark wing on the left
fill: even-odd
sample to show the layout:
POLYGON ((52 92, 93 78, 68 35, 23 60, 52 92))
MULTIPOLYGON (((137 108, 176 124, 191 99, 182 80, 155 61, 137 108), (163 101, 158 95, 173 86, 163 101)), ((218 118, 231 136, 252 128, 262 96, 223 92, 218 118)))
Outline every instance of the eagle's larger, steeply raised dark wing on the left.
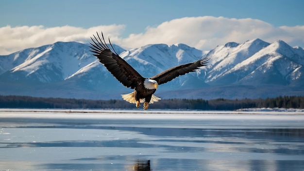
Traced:
POLYGON ((102 40, 98 33, 98 39, 95 35, 93 36, 95 40, 92 37, 91 39, 94 44, 90 43, 92 45, 90 46, 90 48, 94 53, 93 55, 99 59, 99 61, 112 73, 112 75, 120 83, 122 83, 126 87, 135 88, 137 81, 144 78, 117 54, 109 39, 109 43, 114 52, 110 50, 110 48, 104 41, 102 32, 102 40))

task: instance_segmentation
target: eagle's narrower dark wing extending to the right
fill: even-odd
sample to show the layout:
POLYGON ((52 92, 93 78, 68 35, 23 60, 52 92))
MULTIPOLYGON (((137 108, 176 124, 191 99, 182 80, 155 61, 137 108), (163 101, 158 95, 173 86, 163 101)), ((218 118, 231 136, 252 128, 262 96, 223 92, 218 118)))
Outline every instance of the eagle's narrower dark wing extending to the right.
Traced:
POLYGON ((203 56, 200 60, 188 64, 179 65, 173 68, 169 68, 153 77, 151 77, 152 80, 157 81, 158 85, 165 84, 174 78, 185 75, 189 72, 194 72, 195 69, 198 69, 199 67, 206 66, 211 56, 203 56))

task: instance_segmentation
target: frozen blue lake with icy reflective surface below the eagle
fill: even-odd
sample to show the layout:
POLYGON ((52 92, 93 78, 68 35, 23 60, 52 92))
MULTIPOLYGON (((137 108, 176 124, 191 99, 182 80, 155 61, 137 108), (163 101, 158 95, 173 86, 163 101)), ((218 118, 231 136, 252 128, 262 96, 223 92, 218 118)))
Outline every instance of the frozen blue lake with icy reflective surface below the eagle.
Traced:
POLYGON ((304 171, 304 113, 0 109, 0 171, 54 170, 304 171))

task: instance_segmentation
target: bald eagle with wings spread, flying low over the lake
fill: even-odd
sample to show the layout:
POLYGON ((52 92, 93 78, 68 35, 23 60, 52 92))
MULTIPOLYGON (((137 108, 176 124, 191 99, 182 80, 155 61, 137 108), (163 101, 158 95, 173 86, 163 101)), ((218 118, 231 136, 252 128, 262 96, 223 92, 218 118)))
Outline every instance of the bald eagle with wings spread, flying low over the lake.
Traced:
POLYGON ((158 85, 165 84, 180 75, 194 72, 195 69, 206 66, 210 59, 208 56, 203 56, 198 61, 169 68, 153 77, 144 78, 118 55, 110 42, 110 38, 109 43, 113 51, 111 51, 105 43, 102 32, 102 39, 98 33, 97 37, 95 35, 93 36, 94 39, 91 37, 93 43, 90 43, 92 45, 90 48, 94 53, 93 55, 99 59, 101 64, 103 64, 122 85, 135 89, 132 93, 121 95, 123 100, 129 103, 135 103, 137 108, 139 108, 140 103, 144 103, 144 110, 148 109, 149 103, 161 100, 159 97, 153 95, 158 85))

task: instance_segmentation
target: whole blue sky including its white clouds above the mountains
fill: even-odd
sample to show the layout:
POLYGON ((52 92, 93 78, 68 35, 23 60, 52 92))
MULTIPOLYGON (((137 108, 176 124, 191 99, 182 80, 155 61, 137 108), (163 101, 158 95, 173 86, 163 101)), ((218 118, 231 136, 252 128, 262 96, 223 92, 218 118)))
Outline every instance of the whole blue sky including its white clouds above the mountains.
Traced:
POLYGON ((185 43, 210 50, 253 38, 303 47, 303 7, 304 0, 0 0, 0 54, 87 42, 96 31, 125 49, 185 43))

